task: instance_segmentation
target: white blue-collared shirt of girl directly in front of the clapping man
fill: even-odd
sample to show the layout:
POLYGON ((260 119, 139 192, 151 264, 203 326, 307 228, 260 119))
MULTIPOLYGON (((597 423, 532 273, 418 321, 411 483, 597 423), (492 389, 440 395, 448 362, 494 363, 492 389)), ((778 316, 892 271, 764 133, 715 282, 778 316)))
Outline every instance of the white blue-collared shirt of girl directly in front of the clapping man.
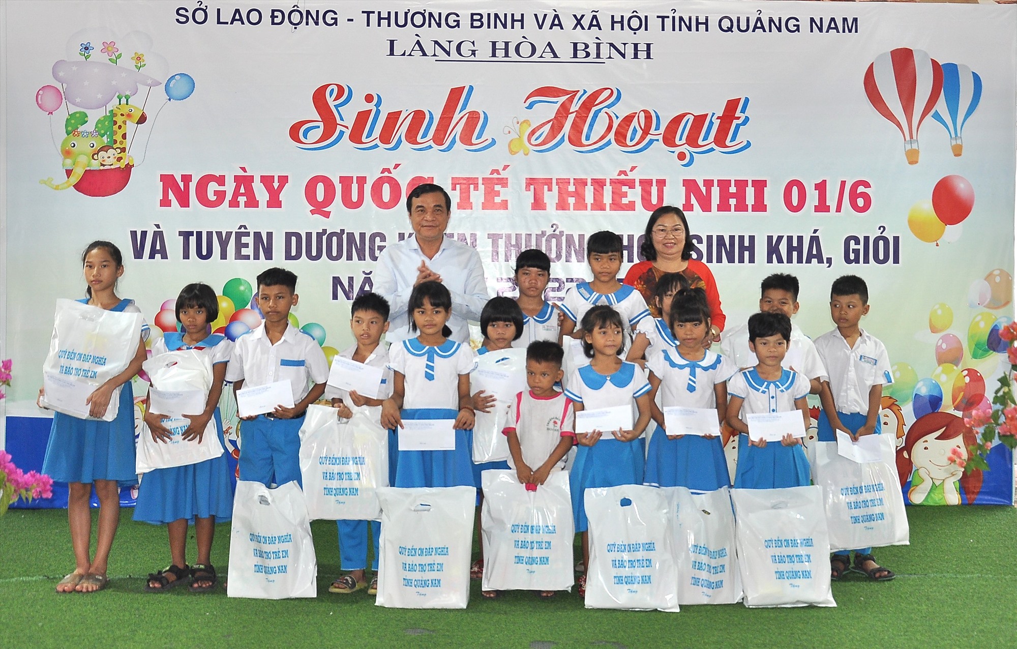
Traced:
POLYGON ((452 339, 432 347, 410 338, 388 348, 388 368, 404 376, 403 408, 459 410, 459 377, 476 364, 470 347, 452 339))

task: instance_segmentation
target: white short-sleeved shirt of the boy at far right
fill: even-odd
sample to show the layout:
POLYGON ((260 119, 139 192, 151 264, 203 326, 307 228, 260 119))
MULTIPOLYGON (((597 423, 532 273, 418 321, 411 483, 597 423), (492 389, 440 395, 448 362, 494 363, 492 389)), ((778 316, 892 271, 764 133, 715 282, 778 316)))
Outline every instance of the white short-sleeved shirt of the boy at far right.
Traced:
POLYGON ((893 382, 886 346, 863 330, 854 347, 847 346, 840 331, 827 332, 816 339, 816 351, 826 363, 837 412, 868 413, 872 387, 893 382))

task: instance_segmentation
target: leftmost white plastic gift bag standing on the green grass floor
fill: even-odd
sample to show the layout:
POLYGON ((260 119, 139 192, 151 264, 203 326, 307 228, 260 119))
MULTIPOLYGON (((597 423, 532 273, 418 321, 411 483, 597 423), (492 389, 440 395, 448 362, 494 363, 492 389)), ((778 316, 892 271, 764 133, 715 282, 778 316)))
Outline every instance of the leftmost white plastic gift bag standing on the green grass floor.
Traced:
POLYGON ((230 597, 317 596, 317 558, 300 486, 237 480, 230 533, 230 597))

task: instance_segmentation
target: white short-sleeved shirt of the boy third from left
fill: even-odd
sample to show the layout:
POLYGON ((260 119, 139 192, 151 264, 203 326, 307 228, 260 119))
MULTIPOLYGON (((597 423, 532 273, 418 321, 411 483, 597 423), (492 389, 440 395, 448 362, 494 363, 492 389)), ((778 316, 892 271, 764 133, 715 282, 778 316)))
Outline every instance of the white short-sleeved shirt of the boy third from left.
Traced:
POLYGON ((234 343, 226 380, 240 379, 248 388, 289 380, 293 403, 299 403, 310 392, 311 383, 328 380, 328 362, 317 342, 293 324, 287 324, 283 337, 273 345, 262 323, 234 343))

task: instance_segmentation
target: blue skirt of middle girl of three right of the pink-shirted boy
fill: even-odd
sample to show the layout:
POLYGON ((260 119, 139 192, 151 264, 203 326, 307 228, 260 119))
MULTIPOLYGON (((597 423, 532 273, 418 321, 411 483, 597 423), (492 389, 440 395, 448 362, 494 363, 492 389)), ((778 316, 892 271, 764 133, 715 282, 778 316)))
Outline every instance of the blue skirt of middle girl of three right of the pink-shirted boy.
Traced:
POLYGON ((683 435, 678 439, 668 439, 667 434, 658 429, 650 438, 643 481, 658 486, 683 486, 697 491, 730 486, 720 436, 707 439, 683 435))

